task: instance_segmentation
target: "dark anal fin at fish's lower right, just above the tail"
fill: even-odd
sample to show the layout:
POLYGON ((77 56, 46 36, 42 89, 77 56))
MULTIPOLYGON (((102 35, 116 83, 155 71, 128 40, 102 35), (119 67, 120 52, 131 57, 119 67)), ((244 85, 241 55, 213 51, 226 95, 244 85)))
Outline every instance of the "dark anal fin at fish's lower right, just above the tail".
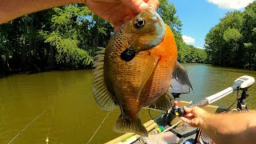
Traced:
POLYGON ((162 95, 162 97, 158 98, 158 100, 145 108, 154 109, 154 110, 162 110, 166 111, 169 110, 172 107, 170 102, 170 97, 167 94, 162 95))

